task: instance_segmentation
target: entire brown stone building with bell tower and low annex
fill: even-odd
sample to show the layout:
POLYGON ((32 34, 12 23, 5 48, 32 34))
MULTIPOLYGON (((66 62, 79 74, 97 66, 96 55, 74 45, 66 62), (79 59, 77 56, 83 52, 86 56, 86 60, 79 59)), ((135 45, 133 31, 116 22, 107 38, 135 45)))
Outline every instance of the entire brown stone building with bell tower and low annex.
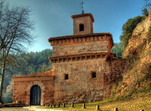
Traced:
MULTIPOLYGON (((52 70, 13 78, 13 101, 27 105, 82 103, 111 95, 122 64, 110 33, 93 33, 93 15, 73 15, 73 35, 49 38, 52 70), (120 69, 118 69, 120 65, 120 69)), ((124 63, 124 61, 123 61, 124 63)), ((124 66, 123 66, 124 67, 124 66)))

